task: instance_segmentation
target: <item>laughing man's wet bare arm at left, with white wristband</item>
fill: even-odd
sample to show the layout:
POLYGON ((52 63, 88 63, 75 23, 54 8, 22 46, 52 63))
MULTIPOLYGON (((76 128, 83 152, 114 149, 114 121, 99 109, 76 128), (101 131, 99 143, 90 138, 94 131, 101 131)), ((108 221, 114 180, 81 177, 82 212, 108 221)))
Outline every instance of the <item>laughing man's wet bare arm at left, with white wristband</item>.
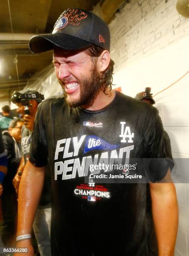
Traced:
MULTIPOLYGON (((18 226, 17 236, 31 234, 38 202, 42 192, 45 167, 36 167, 27 161, 18 194, 18 226)), ((33 255, 30 239, 17 242, 17 247, 28 247, 29 255, 33 255)), ((15 254, 17 255, 17 254, 15 254)), ((22 254, 18 254, 21 256, 22 254)))

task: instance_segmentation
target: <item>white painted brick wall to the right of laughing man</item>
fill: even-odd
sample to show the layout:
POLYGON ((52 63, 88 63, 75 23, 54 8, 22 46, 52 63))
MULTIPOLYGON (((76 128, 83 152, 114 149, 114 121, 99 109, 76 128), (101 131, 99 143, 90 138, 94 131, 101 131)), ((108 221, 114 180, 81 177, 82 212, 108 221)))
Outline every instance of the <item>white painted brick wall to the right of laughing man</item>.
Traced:
MULTIPOLYGON (((189 19, 177 0, 131 0, 109 24, 114 83, 134 97, 145 87, 155 95, 189 70, 189 19)), ((174 158, 189 158, 189 73, 154 97, 174 158)), ((187 166, 183 172, 188 172, 187 166)), ((178 180, 177 180, 178 182, 178 180)), ((189 184, 176 183, 179 231, 175 256, 189 256, 189 184)))

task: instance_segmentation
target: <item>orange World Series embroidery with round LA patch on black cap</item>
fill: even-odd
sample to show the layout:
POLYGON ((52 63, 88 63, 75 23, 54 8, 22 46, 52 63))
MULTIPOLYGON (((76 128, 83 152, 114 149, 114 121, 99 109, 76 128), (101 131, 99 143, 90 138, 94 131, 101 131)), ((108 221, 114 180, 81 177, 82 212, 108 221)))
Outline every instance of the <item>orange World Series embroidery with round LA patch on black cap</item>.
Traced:
POLYGON ((60 18, 55 23, 55 29, 62 29, 67 25, 67 23, 78 26, 80 25, 80 20, 85 18, 87 18, 87 13, 84 11, 69 8, 60 15, 60 18))

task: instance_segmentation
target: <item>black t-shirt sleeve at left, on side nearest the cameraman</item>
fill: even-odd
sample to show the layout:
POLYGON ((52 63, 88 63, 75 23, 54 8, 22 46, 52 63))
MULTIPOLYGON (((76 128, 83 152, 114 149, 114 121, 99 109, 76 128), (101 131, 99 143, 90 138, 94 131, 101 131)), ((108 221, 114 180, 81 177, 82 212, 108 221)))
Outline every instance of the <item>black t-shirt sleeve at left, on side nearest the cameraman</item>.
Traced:
POLYGON ((47 164, 47 138, 45 133, 45 109, 38 105, 34 120, 34 128, 31 134, 30 158, 29 161, 37 167, 47 164))

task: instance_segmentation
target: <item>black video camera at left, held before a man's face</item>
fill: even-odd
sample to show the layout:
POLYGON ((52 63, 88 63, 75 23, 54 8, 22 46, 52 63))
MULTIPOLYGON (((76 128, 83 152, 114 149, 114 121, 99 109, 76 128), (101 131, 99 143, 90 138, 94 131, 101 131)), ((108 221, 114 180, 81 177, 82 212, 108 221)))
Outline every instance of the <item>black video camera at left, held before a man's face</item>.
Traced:
POLYGON ((42 102, 44 100, 44 95, 36 92, 36 93, 20 93, 13 92, 11 100, 13 103, 22 103, 23 106, 29 106, 29 100, 36 100, 37 102, 42 102))

